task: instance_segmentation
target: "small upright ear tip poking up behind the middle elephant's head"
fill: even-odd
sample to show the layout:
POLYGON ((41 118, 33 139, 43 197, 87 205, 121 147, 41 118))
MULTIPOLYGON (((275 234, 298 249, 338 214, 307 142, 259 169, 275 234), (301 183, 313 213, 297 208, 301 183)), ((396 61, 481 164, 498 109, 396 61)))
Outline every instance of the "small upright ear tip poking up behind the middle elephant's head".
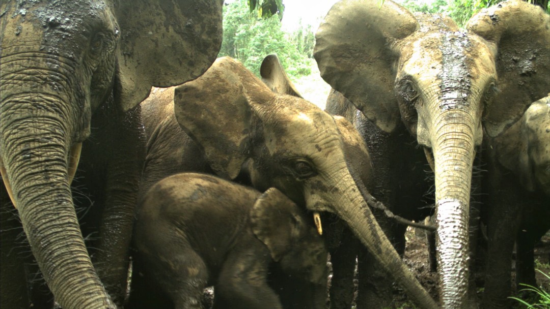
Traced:
POLYGON ((262 65, 260 66, 260 76, 262 76, 262 82, 271 91, 302 98, 292 81, 290 81, 290 78, 288 78, 287 72, 283 69, 283 65, 277 55, 271 54, 263 58, 262 65))

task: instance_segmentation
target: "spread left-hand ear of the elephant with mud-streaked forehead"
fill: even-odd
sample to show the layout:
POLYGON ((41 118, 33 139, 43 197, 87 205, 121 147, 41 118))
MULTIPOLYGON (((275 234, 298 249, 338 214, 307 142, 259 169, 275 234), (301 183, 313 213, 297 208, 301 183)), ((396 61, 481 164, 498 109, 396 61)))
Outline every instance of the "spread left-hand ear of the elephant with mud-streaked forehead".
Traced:
POLYGON ((405 8, 386 0, 340 1, 315 35, 313 57, 323 79, 386 132, 400 121, 394 93, 395 42, 419 24, 405 8))

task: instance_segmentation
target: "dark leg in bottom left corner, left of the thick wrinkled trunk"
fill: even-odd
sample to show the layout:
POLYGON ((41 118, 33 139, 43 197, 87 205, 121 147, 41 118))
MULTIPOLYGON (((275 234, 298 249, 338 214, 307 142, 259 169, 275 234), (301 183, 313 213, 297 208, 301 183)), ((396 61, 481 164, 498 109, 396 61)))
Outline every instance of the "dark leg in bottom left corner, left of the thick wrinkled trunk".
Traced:
POLYGON ((27 280, 23 250, 31 255, 24 239, 17 210, 0 184, 0 308, 28 308, 27 280))

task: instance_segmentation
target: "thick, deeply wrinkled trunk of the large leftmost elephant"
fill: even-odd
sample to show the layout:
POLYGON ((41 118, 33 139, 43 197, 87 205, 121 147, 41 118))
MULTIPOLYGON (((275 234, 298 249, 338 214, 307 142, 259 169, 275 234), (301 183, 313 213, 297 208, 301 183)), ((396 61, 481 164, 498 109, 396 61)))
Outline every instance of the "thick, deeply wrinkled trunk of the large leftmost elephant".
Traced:
POLYGON ((9 92, 8 84, 2 80, 0 169, 32 253, 63 308, 114 308, 95 274, 73 206, 73 128, 60 116, 68 115, 62 107, 68 105, 59 95, 9 92))

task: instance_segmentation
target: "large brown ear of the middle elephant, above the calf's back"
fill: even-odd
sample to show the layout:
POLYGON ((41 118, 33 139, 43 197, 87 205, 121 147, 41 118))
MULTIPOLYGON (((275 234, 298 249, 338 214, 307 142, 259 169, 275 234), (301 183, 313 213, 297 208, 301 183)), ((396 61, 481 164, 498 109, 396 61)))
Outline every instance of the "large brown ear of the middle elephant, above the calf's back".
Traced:
POLYGON ((201 77, 174 89, 174 113, 212 169, 234 179, 251 152, 252 105, 274 95, 239 61, 223 57, 201 77))

